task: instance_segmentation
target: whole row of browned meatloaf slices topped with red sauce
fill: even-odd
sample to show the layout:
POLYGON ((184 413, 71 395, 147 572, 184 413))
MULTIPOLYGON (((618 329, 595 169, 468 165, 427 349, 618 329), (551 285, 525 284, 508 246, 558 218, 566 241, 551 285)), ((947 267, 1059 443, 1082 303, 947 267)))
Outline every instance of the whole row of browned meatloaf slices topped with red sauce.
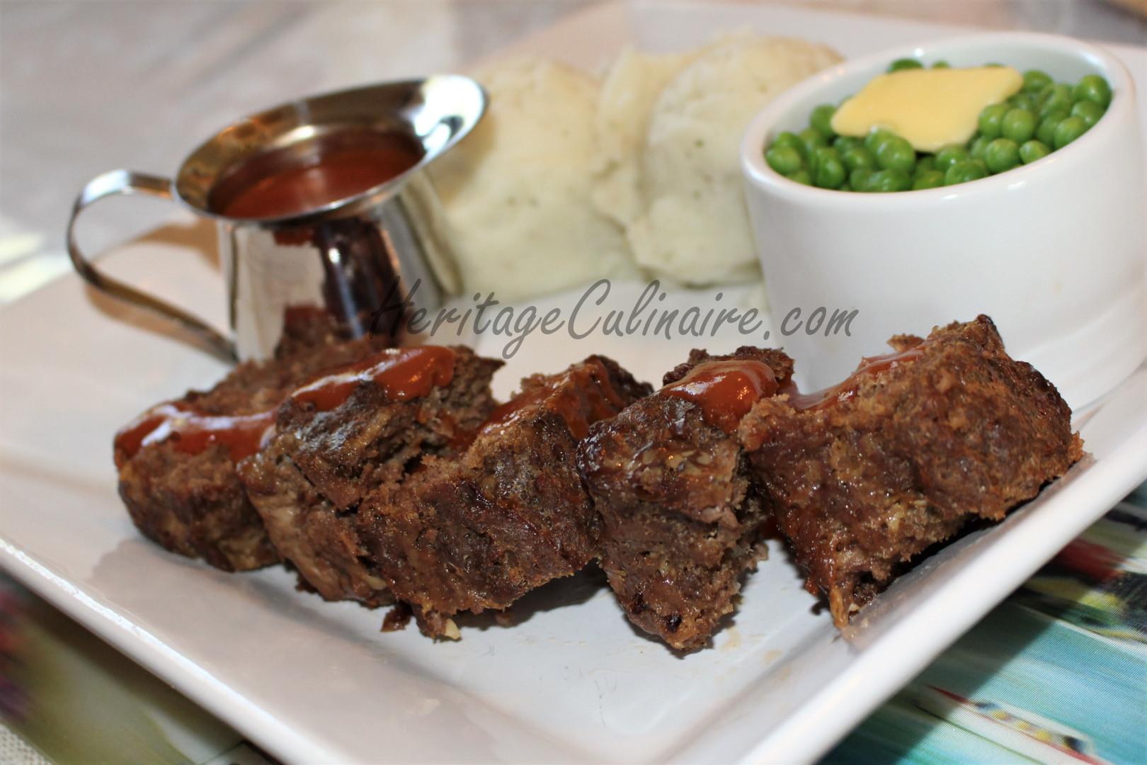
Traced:
POLYGON ((501 361, 338 333, 297 311, 274 359, 146 412, 116 438, 119 493, 172 552, 283 560, 322 598, 396 603, 385 629, 413 615, 436 638, 598 559, 634 625, 693 650, 778 526, 844 626, 914 556, 1083 454, 1055 388, 983 315, 894 337, 817 393, 783 352, 742 348, 693 351, 657 392, 591 356, 501 406, 501 361), (399 358, 438 366, 388 387, 375 372, 399 358))

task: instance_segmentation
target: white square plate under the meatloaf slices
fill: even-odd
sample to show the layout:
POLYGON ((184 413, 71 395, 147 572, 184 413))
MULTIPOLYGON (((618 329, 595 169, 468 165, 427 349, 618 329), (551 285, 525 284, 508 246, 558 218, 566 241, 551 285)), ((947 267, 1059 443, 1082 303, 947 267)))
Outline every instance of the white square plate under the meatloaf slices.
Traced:
MULTIPOLYGON (((513 52, 595 68, 629 41, 673 49, 741 26, 820 39, 845 55, 957 31, 649 3, 590 9, 513 52)), ((1147 72, 1144 50, 1117 53, 1147 72)), ((210 228, 190 234, 210 242, 210 228)), ((136 241, 109 266, 218 315, 216 271, 163 242, 136 241)), ((629 305, 634 289, 619 287, 610 299, 629 305)), ((897 581, 846 637, 774 545, 715 647, 688 656, 632 630, 592 575, 531 594, 513 627, 471 619, 461 641, 435 643, 414 629, 380 634, 381 612, 296 592, 281 568, 227 575, 135 532, 116 495, 112 434, 154 401, 212 384, 224 367, 115 320, 123 313, 73 276, 0 313, 0 564, 291 762, 810 760, 1147 477, 1140 369, 1078 414, 1091 459, 1006 522, 897 581)), ((478 348, 497 353, 501 342, 490 339, 478 348)), ((656 380, 689 344, 540 345, 526 342, 499 373, 500 393, 522 374, 590 352, 656 380)))

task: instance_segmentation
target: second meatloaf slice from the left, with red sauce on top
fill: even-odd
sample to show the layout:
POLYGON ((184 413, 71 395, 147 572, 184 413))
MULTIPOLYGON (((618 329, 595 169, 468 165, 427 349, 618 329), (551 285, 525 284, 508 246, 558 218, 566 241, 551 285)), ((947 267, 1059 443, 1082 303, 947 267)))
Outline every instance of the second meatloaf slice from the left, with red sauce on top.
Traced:
POLYGON ((320 380, 283 401, 266 446, 240 466, 271 541, 327 600, 392 602, 356 531, 360 501, 428 455, 450 452, 494 406, 490 377, 501 361, 466 348, 393 349, 359 366, 382 369, 414 352, 437 354, 436 369, 407 377, 424 383, 415 395, 401 395, 366 372, 320 380), (321 388, 337 395, 304 393, 321 388))

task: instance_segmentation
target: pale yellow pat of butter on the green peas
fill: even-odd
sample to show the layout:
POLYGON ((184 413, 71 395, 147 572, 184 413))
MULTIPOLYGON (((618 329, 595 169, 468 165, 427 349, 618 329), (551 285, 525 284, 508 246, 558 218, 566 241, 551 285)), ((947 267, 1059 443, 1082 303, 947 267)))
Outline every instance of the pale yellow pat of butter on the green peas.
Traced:
POLYGON ((833 130, 859 136, 883 127, 916 151, 936 151, 949 143, 967 143, 983 108, 1021 87, 1023 77, 1011 67, 903 69, 880 75, 841 104, 833 130))

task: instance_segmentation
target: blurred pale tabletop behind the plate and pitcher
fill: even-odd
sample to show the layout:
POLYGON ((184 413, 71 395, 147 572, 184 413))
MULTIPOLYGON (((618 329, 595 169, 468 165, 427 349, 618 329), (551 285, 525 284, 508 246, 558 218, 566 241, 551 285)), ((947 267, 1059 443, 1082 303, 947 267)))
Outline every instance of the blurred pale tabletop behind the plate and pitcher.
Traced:
MULTIPOLYGON (((69 268, 68 210, 94 174, 173 173, 197 141, 237 116, 304 93, 462 68, 591 5, 0 1, 0 304, 69 268)), ((1139 15, 1147 0, 779 5, 1147 42, 1139 15)), ((86 217, 85 245, 100 251, 173 213, 162 202, 108 202, 86 217)))

